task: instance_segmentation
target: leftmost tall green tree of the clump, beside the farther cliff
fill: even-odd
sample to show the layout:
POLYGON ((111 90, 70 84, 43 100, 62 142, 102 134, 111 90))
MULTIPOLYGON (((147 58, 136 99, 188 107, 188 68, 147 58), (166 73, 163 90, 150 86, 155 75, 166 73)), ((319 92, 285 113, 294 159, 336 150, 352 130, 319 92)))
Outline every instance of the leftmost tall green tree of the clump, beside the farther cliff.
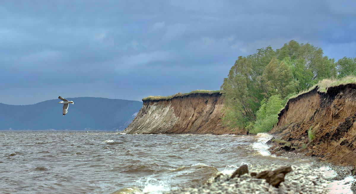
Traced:
POLYGON ((238 57, 220 88, 225 97, 225 125, 244 128, 255 121, 256 111, 263 99, 257 80, 274 56, 275 52, 269 46, 247 57, 238 57))

